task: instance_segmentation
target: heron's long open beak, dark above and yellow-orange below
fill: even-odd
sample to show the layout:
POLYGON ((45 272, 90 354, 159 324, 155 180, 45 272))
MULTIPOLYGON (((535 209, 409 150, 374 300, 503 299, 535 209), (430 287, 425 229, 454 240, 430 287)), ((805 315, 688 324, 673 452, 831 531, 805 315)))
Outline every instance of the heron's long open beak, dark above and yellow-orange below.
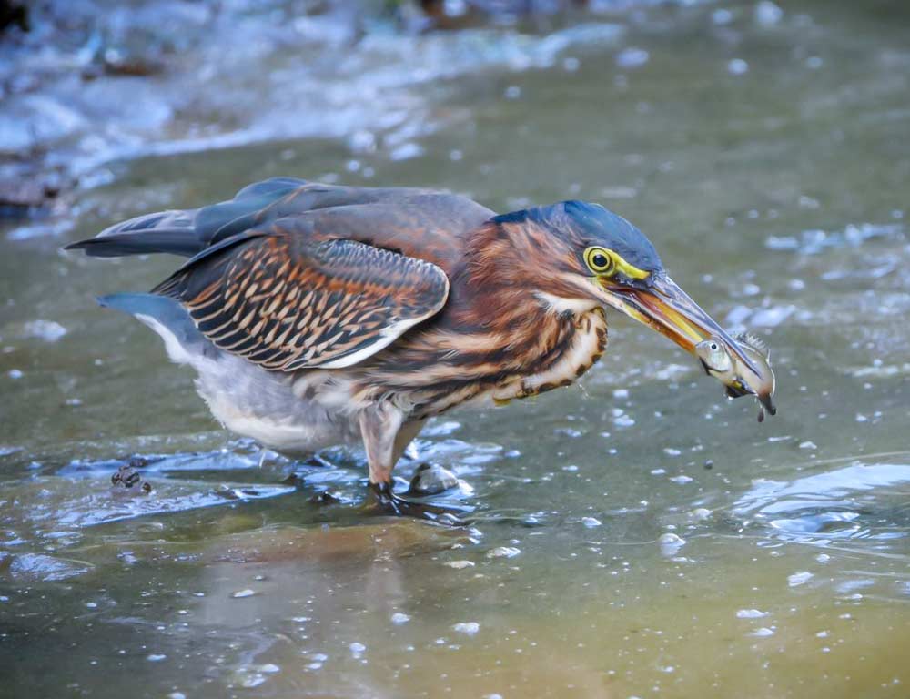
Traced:
POLYGON ((694 354, 699 342, 719 339, 745 366, 760 373, 739 343, 666 275, 655 276, 641 285, 605 281, 602 288, 613 308, 657 330, 690 354, 694 354))

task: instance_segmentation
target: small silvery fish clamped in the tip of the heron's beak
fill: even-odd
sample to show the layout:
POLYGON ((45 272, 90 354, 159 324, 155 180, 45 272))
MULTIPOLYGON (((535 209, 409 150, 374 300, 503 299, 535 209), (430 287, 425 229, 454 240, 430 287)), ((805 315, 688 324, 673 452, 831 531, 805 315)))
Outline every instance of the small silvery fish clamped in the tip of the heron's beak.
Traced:
POLYGON ((771 352, 761 339, 748 333, 733 335, 733 339, 743 348, 743 352, 752 360, 759 373, 755 373, 738 360, 717 338, 705 339, 695 345, 695 355, 702 361, 705 373, 720 380, 727 387, 727 395, 731 398, 753 393, 761 404, 758 421, 762 422, 765 410, 772 415, 777 414, 771 400, 776 388, 774 372, 771 369, 771 352))

